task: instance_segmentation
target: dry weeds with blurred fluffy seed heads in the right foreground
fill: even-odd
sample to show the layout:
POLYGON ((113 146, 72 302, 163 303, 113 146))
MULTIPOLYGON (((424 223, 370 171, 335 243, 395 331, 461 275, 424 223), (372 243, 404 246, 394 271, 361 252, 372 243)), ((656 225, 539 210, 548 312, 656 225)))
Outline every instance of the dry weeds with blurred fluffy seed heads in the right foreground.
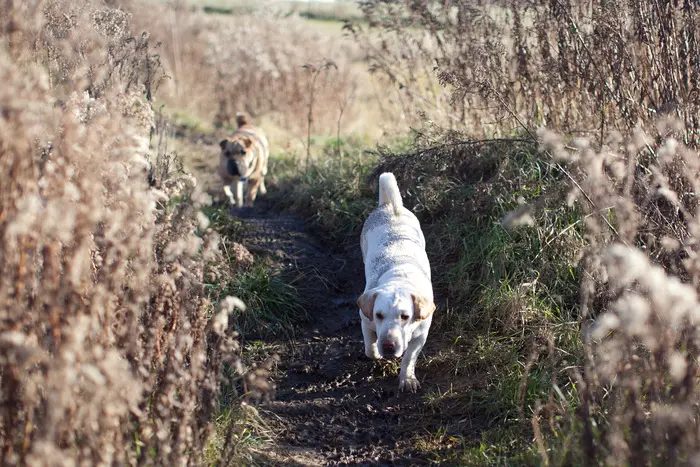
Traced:
POLYGON ((614 465, 700 453, 697 220, 687 195, 699 186, 698 153, 677 142, 682 124, 657 131, 667 135, 660 145, 638 131, 601 150, 586 140, 565 149, 561 137, 542 134, 543 147, 578 180, 569 201, 590 213, 579 294, 584 358, 570 373, 576 399, 553 393, 534 419, 565 414, 561 423, 576 430, 556 436, 565 448, 543 450, 545 461, 563 462, 570 450, 614 465))

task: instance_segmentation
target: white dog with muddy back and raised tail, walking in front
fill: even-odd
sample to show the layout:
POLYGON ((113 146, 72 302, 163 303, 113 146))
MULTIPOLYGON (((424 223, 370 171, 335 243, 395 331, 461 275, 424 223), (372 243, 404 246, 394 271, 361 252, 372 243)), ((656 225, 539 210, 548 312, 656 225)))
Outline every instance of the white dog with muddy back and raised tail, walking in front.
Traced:
POLYGON ((365 291, 357 299, 365 353, 401 357, 399 390, 415 391, 416 359, 433 320, 433 287, 425 238, 415 215, 403 207, 392 173, 379 177, 379 207, 360 237, 365 291))

